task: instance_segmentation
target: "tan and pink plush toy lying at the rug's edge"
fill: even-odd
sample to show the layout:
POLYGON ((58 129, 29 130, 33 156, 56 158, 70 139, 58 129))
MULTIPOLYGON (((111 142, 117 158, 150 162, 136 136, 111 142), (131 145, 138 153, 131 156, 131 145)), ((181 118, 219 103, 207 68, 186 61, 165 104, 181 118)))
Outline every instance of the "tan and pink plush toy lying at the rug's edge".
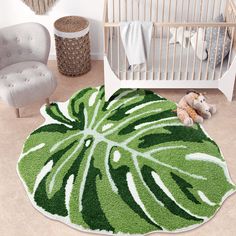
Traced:
POLYGON ((211 118, 216 113, 216 106, 208 104, 203 94, 190 91, 179 102, 177 116, 186 126, 203 123, 204 119, 211 118))

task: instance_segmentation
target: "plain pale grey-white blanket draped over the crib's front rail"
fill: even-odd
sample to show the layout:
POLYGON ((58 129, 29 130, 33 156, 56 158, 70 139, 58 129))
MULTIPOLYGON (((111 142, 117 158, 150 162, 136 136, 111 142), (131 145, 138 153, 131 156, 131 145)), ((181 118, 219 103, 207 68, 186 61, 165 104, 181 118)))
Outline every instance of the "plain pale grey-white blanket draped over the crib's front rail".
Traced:
POLYGON ((152 22, 121 22, 120 34, 130 65, 146 63, 152 41, 152 22))

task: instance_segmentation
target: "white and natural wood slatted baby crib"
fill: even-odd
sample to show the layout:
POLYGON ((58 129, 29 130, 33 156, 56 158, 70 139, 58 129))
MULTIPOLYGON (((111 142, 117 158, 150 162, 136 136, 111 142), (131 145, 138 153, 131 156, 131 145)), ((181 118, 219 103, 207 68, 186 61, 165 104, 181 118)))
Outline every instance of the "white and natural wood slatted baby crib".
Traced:
POLYGON ((236 75, 235 17, 234 0, 105 0, 106 100, 120 88, 201 88, 219 89, 231 101, 236 75), (214 22, 221 13, 226 21, 214 22), (152 21, 154 25, 148 62, 135 70, 129 67, 119 30, 121 21, 134 20, 152 21), (196 32, 202 28, 204 33, 209 28, 213 32, 217 27, 217 40, 220 29, 226 29, 224 43, 226 35, 231 38, 228 56, 224 59, 223 51, 221 63, 212 69, 210 59, 199 60, 190 43, 187 49, 181 44, 169 43, 170 28, 177 31, 178 27, 196 32))

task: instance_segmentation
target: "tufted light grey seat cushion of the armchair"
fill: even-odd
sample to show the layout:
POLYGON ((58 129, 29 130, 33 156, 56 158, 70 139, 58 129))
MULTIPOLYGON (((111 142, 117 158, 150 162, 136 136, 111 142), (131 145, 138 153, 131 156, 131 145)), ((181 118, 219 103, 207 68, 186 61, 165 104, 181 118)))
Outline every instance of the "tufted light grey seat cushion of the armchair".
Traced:
POLYGON ((16 108, 48 98, 56 85, 52 72, 41 62, 20 62, 0 70, 0 97, 16 108))

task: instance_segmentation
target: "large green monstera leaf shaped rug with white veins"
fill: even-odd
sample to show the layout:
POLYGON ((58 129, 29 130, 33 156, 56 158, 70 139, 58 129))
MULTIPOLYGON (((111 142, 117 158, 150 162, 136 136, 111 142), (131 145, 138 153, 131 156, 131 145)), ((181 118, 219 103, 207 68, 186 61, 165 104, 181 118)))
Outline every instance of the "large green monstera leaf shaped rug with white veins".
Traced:
POLYGON ((104 87, 42 108, 18 173, 36 209, 103 234, 179 232, 208 221, 235 191, 201 126, 184 127, 175 103, 151 91, 104 87))

